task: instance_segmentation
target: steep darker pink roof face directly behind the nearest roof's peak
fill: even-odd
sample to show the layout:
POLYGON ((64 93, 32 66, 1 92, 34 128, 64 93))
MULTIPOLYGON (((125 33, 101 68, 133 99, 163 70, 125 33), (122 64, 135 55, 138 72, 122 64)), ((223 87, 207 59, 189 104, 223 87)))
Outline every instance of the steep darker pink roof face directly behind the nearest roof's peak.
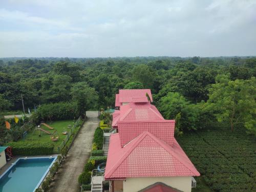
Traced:
POLYGON ((144 131, 152 133, 170 146, 173 145, 175 120, 118 121, 117 126, 121 146, 138 137, 144 131))

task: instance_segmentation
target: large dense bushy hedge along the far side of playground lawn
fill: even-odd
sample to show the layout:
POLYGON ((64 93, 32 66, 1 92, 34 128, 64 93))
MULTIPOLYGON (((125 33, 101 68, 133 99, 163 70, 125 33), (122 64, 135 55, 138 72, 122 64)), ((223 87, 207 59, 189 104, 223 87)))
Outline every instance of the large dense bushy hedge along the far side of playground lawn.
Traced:
POLYGON ((74 119, 78 117, 77 104, 74 102, 42 104, 31 116, 35 123, 46 120, 74 119))

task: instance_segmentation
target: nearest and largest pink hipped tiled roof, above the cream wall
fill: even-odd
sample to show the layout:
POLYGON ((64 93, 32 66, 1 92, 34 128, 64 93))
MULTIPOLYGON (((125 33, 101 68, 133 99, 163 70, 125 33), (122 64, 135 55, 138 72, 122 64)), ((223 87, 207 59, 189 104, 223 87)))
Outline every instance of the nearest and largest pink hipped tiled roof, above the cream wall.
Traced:
POLYGON ((110 138, 105 179, 115 180, 131 177, 200 176, 197 169, 174 139, 169 146, 150 132, 120 145, 120 135, 110 138))

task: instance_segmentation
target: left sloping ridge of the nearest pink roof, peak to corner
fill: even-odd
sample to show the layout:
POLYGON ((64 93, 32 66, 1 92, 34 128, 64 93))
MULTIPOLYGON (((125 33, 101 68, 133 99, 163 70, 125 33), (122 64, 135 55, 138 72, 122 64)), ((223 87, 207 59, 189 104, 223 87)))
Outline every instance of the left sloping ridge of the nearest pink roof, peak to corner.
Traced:
POLYGON ((144 137, 147 135, 146 132, 147 131, 143 132, 138 137, 134 138, 132 141, 130 141, 125 145, 125 147, 127 147, 127 145, 131 144, 134 141, 134 143, 131 144, 129 150, 124 153, 122 158, 119 159, 119 161, 117 161, 117 163, 113 166, 113 169, 107 175, 105 175, 105 177, 111 176, 115 172, 115 170, 119 167, 119 165, 132 153, 132 151, 135 148, 134 146, 137 146, 144 139, 144 137))

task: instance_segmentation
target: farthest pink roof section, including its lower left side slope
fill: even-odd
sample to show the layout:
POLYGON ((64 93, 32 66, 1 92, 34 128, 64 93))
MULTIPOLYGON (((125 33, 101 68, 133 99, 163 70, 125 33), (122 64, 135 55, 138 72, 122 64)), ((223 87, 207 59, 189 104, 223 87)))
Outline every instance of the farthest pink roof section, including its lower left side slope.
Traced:
POLYGON ((131 89, 131 90, 119 90, 119 94, 116 94, 115 106, 121 106, 123 103, 132 102, 133 99, 145 100, 146 94, 150 97, 150 101, 153 102, 150 89, 131 89))

